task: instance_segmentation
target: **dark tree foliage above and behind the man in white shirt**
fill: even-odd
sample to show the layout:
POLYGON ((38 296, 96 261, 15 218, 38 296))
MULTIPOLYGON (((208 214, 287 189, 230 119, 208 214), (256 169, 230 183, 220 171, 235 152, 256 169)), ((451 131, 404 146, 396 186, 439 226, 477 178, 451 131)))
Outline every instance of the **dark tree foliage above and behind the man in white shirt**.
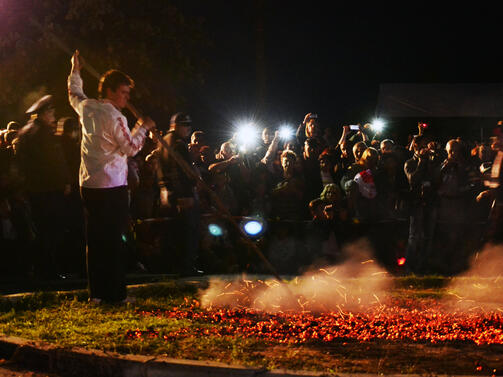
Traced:
MULTIPOLYGON (((4 121, 19 119, 45 93, 55 95, 60 113, 70 112, 70 56, 51 35, 78 48, 99 72, 116 68, 132 76, 135 100, 149 112, 174 112, 184 101, 179 89, 203 82, 209 46, 203 21, 187 19, 170 1, 0 0, 4 121)), ((96 96, 96 79, 83 75, 86 93, 96 96)))

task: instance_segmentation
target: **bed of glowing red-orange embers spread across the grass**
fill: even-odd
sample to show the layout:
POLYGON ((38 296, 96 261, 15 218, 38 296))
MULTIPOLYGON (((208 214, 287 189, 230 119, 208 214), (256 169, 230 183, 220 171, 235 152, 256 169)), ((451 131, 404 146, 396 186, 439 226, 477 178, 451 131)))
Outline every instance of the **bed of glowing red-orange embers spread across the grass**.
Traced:
POLYGON ((129 330, 132 338, 157 337, 170 341, 184 337, 240 336, 277 343, 348 342, 387 340, 400 342, 467 342, 476 345, 503 344, 503 313, 473 310, 444 312, 434 300, 421 308, 409 303, 381 304, 365 313, 275 313, 244 309, 202 309, 199 303, 167 311, 139 311, 141 316, 188 319, 210 328, 187 327, 160 334, 155 329, 129 330))

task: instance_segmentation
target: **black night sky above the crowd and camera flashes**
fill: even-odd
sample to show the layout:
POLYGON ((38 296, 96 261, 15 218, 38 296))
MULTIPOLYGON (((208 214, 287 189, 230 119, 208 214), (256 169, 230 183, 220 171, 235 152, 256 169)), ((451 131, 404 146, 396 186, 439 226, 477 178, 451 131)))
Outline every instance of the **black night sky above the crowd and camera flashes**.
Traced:
POLYGON ((491 7, 325 4, 181 2, 184 13, 204 18, 213 43, 206 83, 189 96, 194 120, 216 127, 255 115, 274 126, 312 111, 339 127, 372 118, 380 83, 503 81, 502 23, 491 7))

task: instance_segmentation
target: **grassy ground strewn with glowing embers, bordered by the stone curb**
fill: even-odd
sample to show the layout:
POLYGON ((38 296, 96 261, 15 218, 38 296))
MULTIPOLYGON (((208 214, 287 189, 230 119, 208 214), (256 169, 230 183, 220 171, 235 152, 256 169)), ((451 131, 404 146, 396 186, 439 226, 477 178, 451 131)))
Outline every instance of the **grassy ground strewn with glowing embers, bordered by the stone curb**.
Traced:
MULTIPOLYGON (((135 288, 135 304, 93 305, 87 294, 0 301, 0 334, 62 347, 165 355, 324 372, 501 374, 503 312, 465 300, 444 278, 390 279, 365 309, 266 313, 202 308, 208 283, 135 288)), ((469 281, 480 289, 485 281, 469 281)), ((293 284, 293 283, 290 283, 293 284)), ((482 288, 481 288, 482 287, 482 288)), ((232 292, 223 292, 232 294, 232 292)), ((502 305, 503 306, 503 305, 502 305)))

